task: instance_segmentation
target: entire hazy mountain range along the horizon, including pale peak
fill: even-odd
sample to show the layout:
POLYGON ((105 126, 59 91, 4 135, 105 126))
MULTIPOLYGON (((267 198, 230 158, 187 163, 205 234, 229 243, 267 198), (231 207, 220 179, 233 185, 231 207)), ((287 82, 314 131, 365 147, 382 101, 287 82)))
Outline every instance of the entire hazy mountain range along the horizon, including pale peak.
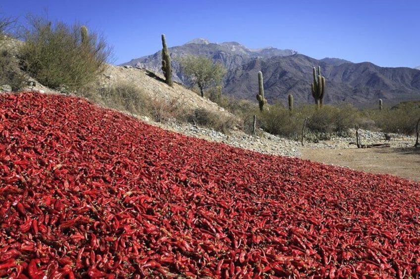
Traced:
MULTIPOLYGON (((339 58, 314 59, 292 49, 262 47, 250 49, 238 42, 212 43, 191 40, 169 48, 173 79, 186 85, 178 59, 185 55, 206 56, 228 70, 223 92, 254 100, 258 93, 258 72, 264 80, 269 102, 286 101, 292 93, 297 103, 313 102, 310 83, 312 68, 320 66, 326 80, 325 103, 348 102, 355 105, 420 99, 420 71, 411 68, 385 68, 369 62, 352 63, 339 58)), ((161 50, 122 65, 146 68, 161 73, 161 50)))

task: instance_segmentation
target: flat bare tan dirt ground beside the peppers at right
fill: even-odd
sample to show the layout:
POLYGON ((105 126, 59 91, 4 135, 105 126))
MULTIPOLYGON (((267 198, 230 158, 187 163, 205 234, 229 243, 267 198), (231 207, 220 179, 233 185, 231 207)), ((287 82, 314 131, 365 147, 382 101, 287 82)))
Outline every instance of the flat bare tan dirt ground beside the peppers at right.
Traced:
POLYGON ((370 173, 386 173, 420 182, 419 148, 301 148, 300 152, 302 159, 370 173))

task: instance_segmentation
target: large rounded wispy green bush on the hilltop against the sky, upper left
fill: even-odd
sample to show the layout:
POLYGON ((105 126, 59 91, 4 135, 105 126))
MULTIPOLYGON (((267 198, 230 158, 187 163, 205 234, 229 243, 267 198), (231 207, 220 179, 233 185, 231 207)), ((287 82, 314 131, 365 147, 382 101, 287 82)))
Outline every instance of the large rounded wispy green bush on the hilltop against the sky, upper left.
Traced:
POLYGON ((77 90, 95 80, 105 70, 112 51, 95 32, 82 43, 81 27, 31 18, 20 49, 23 69, 54 89, 77 90))

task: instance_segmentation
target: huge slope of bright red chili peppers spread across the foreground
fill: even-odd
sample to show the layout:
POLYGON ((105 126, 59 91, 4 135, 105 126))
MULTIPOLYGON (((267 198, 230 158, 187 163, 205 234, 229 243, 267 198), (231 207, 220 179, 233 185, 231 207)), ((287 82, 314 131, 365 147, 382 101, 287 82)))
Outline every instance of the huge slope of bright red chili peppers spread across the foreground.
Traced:
POLYGON ((420 185, 0 95, 0 277, 420 276, 420 185))

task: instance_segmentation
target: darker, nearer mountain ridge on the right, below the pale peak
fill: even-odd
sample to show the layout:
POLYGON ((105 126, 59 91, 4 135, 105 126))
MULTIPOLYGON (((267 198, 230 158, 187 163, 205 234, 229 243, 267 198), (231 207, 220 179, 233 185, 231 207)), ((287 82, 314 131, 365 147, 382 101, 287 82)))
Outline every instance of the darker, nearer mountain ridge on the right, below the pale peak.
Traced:
POLYGON ((296 102, 312 103, 312 68, 318 65, 326 80, 326 103, 345 101, 360 105, 379 98, 389 103, 420 99, 420 72, 417 70, 382 68, 368 62, 335 66, 302 54, 254 59, 229 72, 224 92, 255 99, 258 72, 262 71, 268 101, 286 101, 292 93, 296 102))

